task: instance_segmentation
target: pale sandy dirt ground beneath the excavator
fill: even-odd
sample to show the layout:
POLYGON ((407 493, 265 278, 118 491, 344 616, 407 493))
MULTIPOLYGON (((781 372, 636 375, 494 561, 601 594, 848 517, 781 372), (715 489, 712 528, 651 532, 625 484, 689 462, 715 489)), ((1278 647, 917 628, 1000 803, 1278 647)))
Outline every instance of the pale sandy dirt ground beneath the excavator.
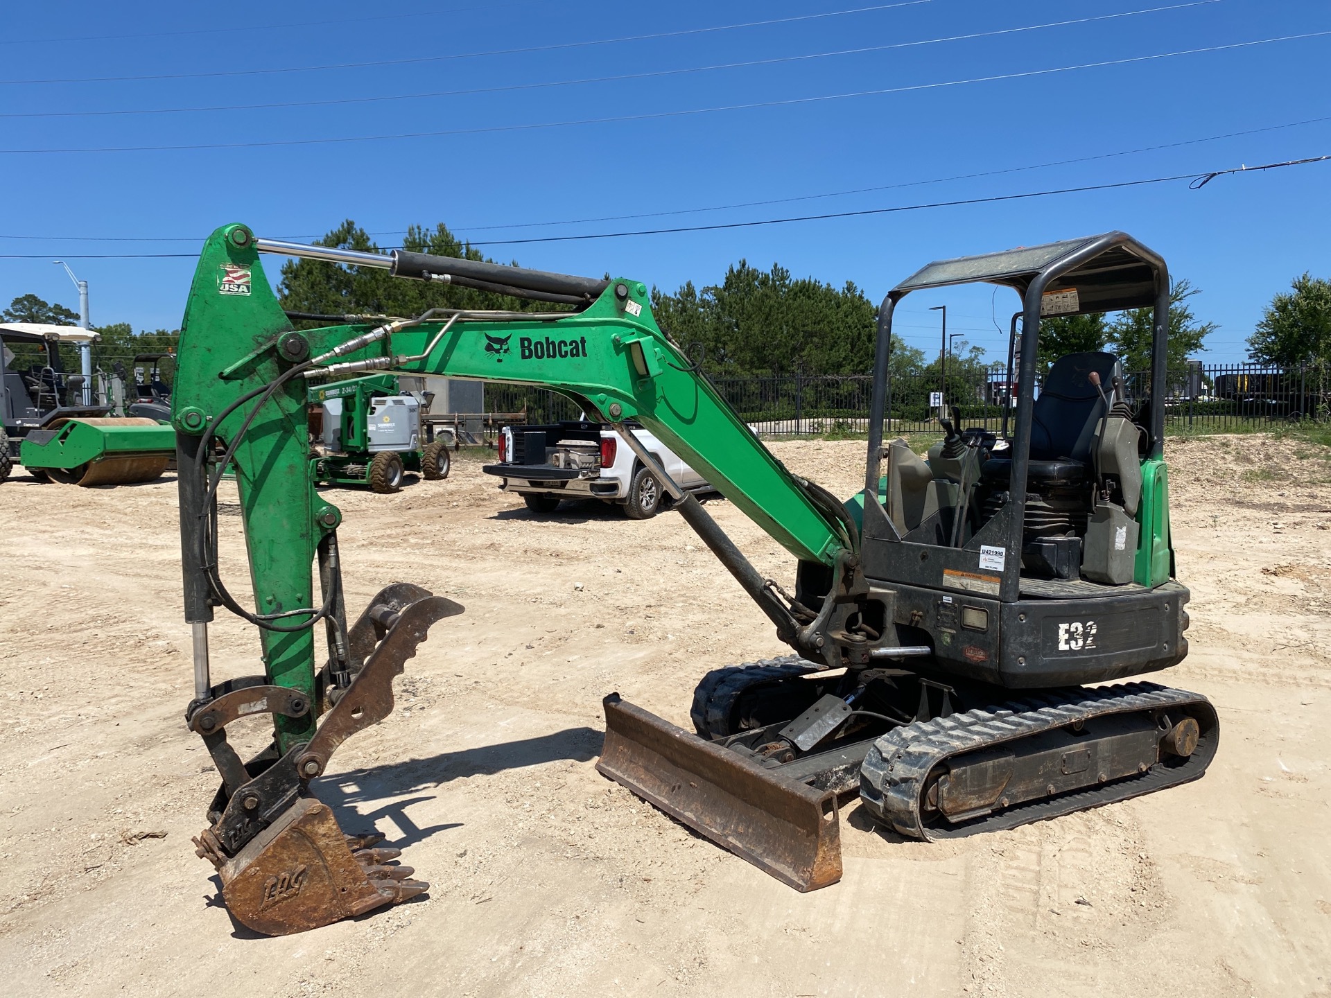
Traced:
MULTIPOLYGON (((773 450, 849 495, 862 446, 773 450)), ((4 990, 1331 995, 1331 466, 1259 436, 1169 456, 1193 627, 1167 681, 1219 708, 1206 777, 934 845, 852 806, 844 880, 805 896, 594 769, 606 693, 687 727, 703 672, 783 651, 677 516, 538 520, 471 460, 394 496, 333 494, 353 613, 397 580, 466 613, 315 782, 430 893, 287 938, 234 926, 189 841, 217 777, 182 723, 174 480, 79 490, 16 470, 0 486, 4 990)), ((789 579, 729 503, 708 508, 789 579)), ((245 591, 240 520, 222 522, 245 591)), ((257 649, 220 617, 214 679, 258 672, 257 649)))

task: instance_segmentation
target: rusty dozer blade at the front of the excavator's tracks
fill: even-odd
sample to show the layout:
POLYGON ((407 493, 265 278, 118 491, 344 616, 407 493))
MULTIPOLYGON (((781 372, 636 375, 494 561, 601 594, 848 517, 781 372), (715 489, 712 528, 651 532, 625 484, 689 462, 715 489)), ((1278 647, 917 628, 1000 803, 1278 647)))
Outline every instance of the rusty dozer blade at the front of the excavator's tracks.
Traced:
POLYGON ((841 880, 836 793, 764 769, 620 700, 604 700, 596 769, 796 890, 841 880))

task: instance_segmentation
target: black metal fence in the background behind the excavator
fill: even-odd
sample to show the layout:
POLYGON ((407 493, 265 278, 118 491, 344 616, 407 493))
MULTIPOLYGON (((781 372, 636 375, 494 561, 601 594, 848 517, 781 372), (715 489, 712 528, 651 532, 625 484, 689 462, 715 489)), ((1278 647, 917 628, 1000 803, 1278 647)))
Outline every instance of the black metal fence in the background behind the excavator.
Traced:
MULTIPOLYGON (((1328 418, 1331 386, 1318 369, 1190 363, 1166 378, 1166 428, 1181 432, 1239 432, 1302 419, 1328 418)), ((869 430, 869 375, 763 375, 713 378, 717 391, 764 436, 862 435, 869 430)), ((1133 407, 1150 394, 1150 377, 1125 378, 1133 407)), ((1001 431, 1010 419, 1016 386, 1004 371, 949 374, 946 386, 928 374, 892 379, 886 435, 938 432, 938 397, 961 410, 964 426, 1001 431), (944 391, 944 387, 946 389, 944 391)), ((486 410, 518 413, 531 423, 576 419, 578 406, 552 391, 486 386, 486 410)))

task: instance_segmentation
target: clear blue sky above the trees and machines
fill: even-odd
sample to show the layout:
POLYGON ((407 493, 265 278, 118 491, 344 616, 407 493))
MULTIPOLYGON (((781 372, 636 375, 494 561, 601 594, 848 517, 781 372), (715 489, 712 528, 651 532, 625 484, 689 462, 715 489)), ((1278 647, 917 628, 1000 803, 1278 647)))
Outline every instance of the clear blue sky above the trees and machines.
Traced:
MULTIPOLYGON (((1142 59, 1314 32, 1331 32, 1324 0, 16 5, 0 36, 0 254, 36 258, 0 258, 0 302, 33 291, 76 306, 68 275, 51 263, 64 258, 91 285, 93 325, 173 329, 190 258, 79 257, 192 254, 233 221, 261 236, 314 238, 354 218, 385 246, 411 222, 442 221, 492 244, 1331 153, 1331 35, 1142 59), (1057 21, 1082 23, 1036 27, 1057 21), (978 37, 954 37, 964 35, 978 37), (1117 60, 1137 61, 1067 69, 1117 60), (377 65, 349 65, 366 63, 377 65), (727 68, 705 68, 717 65, 727 68), (51 80, 64 83, 37 83, 51 80), (546 85, 570 80, 594 81, 546 85), (966 80, 981 81, 954 83, 966 80), (865 90, 894 92, 837 96, 865 90), (363 100, 421 93, 447 96, 363 100), (253 106, 272 104, 299 106, 253 106), (765 106, 693 113, 755 104, 765 106), (194 110, 216 106, 230 109, 194 110), (81 113, 180 108, 190 110, 81 113), (591 118, 618 120, 546 126, 591 118), (307 141, 430 132, 453 134, 307 141), (32 152, 198 145, 232 148, 32 152), (1130 152, 1147 146, 1173 148, 1130 152), (1082 161, 1041 166, 1065 160, 1082 161), (945 180, 964 174, 988 176, 945 180), (837 192, 860 193, 809 198, 837 192), (809 200, 689 210, 788 198, 809 200), (623 216, 650 217, 582 221, 623 216)), ((1226 362, 1243 359, 1252 323, 1292 277, 1331 275, 1328 182, 1331 162, 1219 177, 1201 190, 1175 181, 483 249, 666 289, 719 281, 740 258, 777 261, 796 275, 855 281, 877 301, 934 258, 1125 229, 1203 290, 1195 311, 1221 325, 1207 358, 1226 362)), ((270 275, 278 265, 269 262, 270 275)), ((1006 325, 1008 294, 914 297, 898 331, 937 349, 937 313, 926 307, 948 301, 950 331, 997 351, 990 315, 1006 325)))

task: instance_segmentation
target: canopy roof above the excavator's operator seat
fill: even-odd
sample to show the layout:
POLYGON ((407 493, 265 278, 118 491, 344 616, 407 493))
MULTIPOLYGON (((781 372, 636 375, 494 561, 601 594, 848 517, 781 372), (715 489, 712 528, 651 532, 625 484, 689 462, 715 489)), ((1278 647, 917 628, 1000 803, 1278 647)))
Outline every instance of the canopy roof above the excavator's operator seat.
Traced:
MULTIPOLYGON (((1049 242, 1044 246, 1018 246, 1002 253, 978 257, 938 259, 916 271, 892 289, 893 298, 922 287, 942 287, 986 282, 1013 287, 1024 298, 1032 281, 1041 273, 1066 273, 1051 279, 1045 294, 1077 291, 1073 307, 1058 307, 1059 314, 1139 309, 1155 303, 1157 277, 1166 274, 1165 261, 1127 233, 1109 232, 1079 240, 1049 242)), ((1063 299, 1067 302, 1067 298, 1063 299)))

